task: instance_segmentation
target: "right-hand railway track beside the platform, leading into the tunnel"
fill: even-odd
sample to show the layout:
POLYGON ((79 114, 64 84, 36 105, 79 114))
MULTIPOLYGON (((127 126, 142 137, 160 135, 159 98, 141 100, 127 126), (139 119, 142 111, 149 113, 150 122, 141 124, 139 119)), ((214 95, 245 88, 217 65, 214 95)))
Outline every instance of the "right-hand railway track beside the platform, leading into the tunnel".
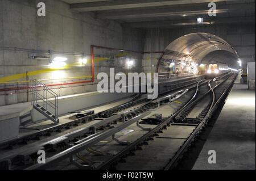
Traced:
MULTIPOLYGON (((195 139, 195 136, 199 134, 201 129, 206 125, 210 113, 213 111, 213 107, 216 107, 214 105, 220 101, 220 97, 224 90, 232 85, 232 81, 234 80, 235 76, 236 75, 232 75, 231 77, 228 77, 226 75, 223 77, 224 80, 219 83, 209 81, 209 89, 206 89, 204 83, 201 85, 199 83, 197 85, 195 94, 183 107, 179 109, 179 111, 168 117, 167 120, 164 120, 163 123, 152 129, 142 138, 135 141, 130 148, 122 150, 117 156, 104 162, 104 164, 98 167, 98 169, 109 169, 110 165, 114 165, 115 169, 173 169, 177 161, 179 161, 180 157, 182 157, 184 150, 188 148, 191 142, 195 139), (213 90, 215 90, 215 92, 212 100, 210 101, 210 107, 208 104, 206 104, 207 106, 203 108, 203 111, 196 116, 197 121, 188 121, 186 116, 189 115, 189 112, 193 111, 196 104, 205 102, 205 99, 208 99, 209 94, 213 92, 213 90), (218 96, 216 96, 217 94, 218 96), (203 115, 204 119, 201 117, 203 115), (178 121, 179 123, 176 121, 177 116, 183 118, 182 120, 178 121), (182 129, 185 129, 183 132, 184 135, 182 135, 183 137, 173 137, 174 134, 171 132, 175 132, 175 129, 179 129, 181 132, 182 129), (161 142, 163 139, 168 140, 165 142, 167 148, 164 148, 162 145, 159 146, 158 142, 161 142), (170 154, 172 154, 173 157, 170 157, 169 162, 166 158, 170 154), (151 158, 152 155, 156 155, 156 157, 151 158), (163 159, 165 159, 165 161, 163 161, 163 159)), ((176 132, 176 134, 178 133, 176 132)))

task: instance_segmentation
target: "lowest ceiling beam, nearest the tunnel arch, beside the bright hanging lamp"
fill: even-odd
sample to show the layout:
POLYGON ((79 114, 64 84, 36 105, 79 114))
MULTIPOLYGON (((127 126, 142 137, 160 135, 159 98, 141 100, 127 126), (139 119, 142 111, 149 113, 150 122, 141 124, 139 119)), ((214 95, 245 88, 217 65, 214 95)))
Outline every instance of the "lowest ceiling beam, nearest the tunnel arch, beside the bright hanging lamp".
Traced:
POLYGON ((157 27, 177 27, 177 26, 196 26, 196 25, 210 25, 222 23, 246 23, 254 22, 255 16, 238 16, 228 18, 207 18, 204 23, 197 23, 196 19, 187 20, 171 20, 171 21, 158 21, 158 22, 136 22, 136 23, 122 23, 123 26, 134 28, 157 28, 157 27))

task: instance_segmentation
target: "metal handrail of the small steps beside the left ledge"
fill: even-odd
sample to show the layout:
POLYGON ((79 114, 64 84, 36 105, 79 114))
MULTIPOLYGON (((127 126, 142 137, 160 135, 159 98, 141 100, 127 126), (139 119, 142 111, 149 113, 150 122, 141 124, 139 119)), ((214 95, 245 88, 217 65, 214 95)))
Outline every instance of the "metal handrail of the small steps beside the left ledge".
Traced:
POLYGON ((54 116, 57 118, 59 116, 59 96, 44 83, 36 79, 32 80, 31 84, 30 100, 32 105, 36 106, 36 104, 39 104, 45 110, 51 108, 50 111, 53 111, 52 113, 54 113, 54 116))

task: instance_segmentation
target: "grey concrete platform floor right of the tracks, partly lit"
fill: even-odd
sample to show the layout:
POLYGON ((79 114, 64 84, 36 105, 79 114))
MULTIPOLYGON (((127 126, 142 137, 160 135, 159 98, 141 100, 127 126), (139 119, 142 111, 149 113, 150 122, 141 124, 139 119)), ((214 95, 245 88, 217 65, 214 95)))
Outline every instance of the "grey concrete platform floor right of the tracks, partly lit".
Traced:
POLYGON ((255 91, 247 85, 234 85, 193 169, 255 169, 255 91))

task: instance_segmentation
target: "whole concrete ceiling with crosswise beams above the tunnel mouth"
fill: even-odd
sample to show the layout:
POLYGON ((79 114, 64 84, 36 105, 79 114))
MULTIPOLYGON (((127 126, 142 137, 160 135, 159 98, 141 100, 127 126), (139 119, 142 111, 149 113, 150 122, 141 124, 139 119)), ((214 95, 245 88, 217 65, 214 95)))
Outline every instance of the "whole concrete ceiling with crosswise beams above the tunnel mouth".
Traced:
POLYGON ((92 11, 99 19, 116 20, 137 28, 207 26, 217 23, 255 23, 255 0, 63 0, 79 12, 92 11), (208 3, 217 5, 208 15, 208 3), (196 19, 204 18, 204 23, 196 19))

